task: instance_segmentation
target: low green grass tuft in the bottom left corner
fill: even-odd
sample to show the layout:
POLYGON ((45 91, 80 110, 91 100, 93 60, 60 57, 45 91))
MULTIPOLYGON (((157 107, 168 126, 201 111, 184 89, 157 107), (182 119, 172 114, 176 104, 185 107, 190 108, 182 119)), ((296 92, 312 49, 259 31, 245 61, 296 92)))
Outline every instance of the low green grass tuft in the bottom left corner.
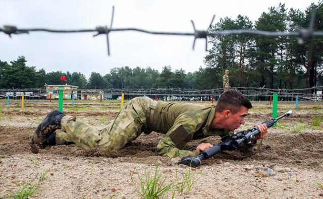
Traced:
POLYGON ((31 186, 29 183, 19 184, 14 182, 14 184, 19 188, 19 190, 11 191, 9 194, 9 198, 19 198, 19 199, 27 199, 29 196, 34 195, 36 191, 40 188, 39 185, 31 186))

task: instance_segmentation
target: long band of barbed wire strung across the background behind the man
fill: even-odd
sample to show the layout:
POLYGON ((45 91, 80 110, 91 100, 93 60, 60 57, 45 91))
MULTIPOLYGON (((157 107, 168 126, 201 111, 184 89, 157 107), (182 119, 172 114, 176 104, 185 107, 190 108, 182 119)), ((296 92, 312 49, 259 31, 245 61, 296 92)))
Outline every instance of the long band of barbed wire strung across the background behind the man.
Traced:
MULTIPOLYGON (((279 97, 282 98, 290 98, 294 99, 298 97, 301 100, 322 100, 322 90, 323 86, 313 87, 313 88, 305 88, 305 89, 266 89, 266 88, 252 88, 252 87, 234 87, 229 88, 240 91, 242 94, 248 97, 255 98, 263 98, 273 96, 274 93, 277 93, 279 97), (318 91, 317 94, 310 93, 309 91, 315 89, 318 91), (319 94, 320 92, 320 94, 319 94)), ((48 92, 58 91, 55 89, 43 89, 43 88, 30 88, 30 89, 0 89, 0 99, 7 98, 8 95, 10 98, 15 98, 21 96, 22 92, 27 93, 28 97, 45 97, 48 96, 48 92)), ((103 97, 105 95, 110 94, 111 96, 120 96, 124 93, 129 98, 136 96, 149 96, 154 98, 155 96, 166 98, 171 96, 181 97, 181 98, 205 98, 213 95, 214 98, 220 97, 222 93, 225 91, 224 88, 218 89, 206 89, 206 90, 198 90, 198 89, 181 89, 181 88, 151 88, 151 89, 77 89, 77 90, 69 90, 65 91, 73 91, 77 92, 78 95, 97 95, 102 94, 103 97)), ((70 93, 70 92, 68 92, 70 93)), ((27 95, 26 95, 27 96, 27 95)), ((261 99, 260 99, 261 100, 261 99)), ((264 99, 262 99, 264 100, 264 99)))

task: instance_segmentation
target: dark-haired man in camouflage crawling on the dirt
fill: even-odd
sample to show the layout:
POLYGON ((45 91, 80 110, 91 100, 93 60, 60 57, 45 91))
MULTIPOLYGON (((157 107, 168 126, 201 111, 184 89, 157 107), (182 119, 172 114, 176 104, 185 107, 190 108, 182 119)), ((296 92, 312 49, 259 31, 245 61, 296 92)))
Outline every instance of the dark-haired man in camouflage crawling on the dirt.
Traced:
MULTIPOLYGON (((184 150, 191 140, 208 136, 232 135, 245 123, 252 105, 248 98, 236 90, 225 91, 216 106, 191 103, 174 103, 136 97, 128 101, 115 120, 98 130, 79 118, 53 110, 36 128, 31 144, 41 147, 74 143, 83 149, 120 150, 144 132, 164 134, 157 147, 156 155, 168 157, 196 156, 212 147, 201 143, 195 151, 184 150)), ((263 139, 267 126, 257 125, 261 134, 239 150, 246 156, 255 153, 258 139, 263 139)))

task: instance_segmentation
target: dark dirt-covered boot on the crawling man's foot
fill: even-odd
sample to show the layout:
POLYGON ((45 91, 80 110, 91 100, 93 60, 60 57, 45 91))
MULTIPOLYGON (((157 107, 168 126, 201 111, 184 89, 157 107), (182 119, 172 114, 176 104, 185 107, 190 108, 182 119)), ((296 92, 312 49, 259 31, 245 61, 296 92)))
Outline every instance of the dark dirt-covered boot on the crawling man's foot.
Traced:
POLYGON ((62 127, 61 120, 65 116, 58 110, 52 110, 45 119, 38 125, 31 140, 31 145, 55 145, 55 130, 62 127), (53 134, 53 136, 51 136, 53 134), (46 142, 46 140, 48 142, 46 142), (53 143, 54 142, 54 143, 53 143))

